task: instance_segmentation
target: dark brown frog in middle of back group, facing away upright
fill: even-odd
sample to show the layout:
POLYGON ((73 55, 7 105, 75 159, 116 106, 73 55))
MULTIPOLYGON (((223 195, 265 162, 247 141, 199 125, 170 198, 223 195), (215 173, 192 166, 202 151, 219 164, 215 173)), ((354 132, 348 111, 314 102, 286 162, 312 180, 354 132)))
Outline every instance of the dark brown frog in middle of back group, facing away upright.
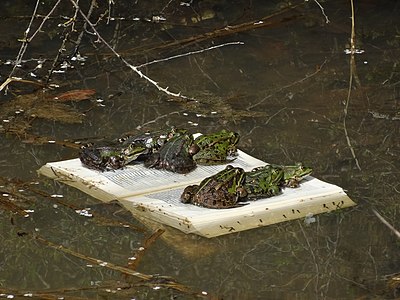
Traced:
MULTIPOLYGON (((148 168, 164 169, 175 173, 186 174, 196 168, 193 160, 193 136, 191 134, 178 134, 161 146, 158 152, 150 155, 144 165, 148 168)), ((196 147, 194 147, 196 148, 196 147)))

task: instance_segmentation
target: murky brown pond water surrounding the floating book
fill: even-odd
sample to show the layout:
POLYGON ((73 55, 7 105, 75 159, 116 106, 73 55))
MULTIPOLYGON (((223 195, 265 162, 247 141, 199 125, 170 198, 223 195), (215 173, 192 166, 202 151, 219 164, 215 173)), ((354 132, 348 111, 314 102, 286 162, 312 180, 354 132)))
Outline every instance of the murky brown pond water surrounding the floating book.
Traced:
MULTIPOLYGON (((55 2, 39 2, 42 17, 28 37, 55 2)), ((84 22, 78 11, 68 23, 70 1, 60 1, 12 71, 36 1, 1 4, 0 83, 9 74, 25 81, 3 86, 0 96, 0 297, 399 297, 400 240, 374 212, 400 230, 400 4, 356 1, 362 53, 352 63, 345 53, 350 1, 114 2, 93 9, 101 37, 129 64, 145 64, 138 70, 158 87, 187 98, 139 77, 90 26, 80 38, 84 22), (50 70, 53 88, 43 92, 35 82, 46 82, 50 70), (52 100, 87 89, 95 97, 61 106, 52 100), (75 141, 172 125, 237 131, 243 151, 310 165, 357 206, 308 225, 296 220, 213 239, 166 229, 143 250, 161 225, 36 173, 46 162, 77 157, 75 141), (95 216, 76 213, 83 208, 95 216), (33 212, 24 217, 23 209, 33 212), (141 258, 140 280, 90 260, 127 266, 133 256, 141 258), (183 291, 146 277, 155 274, 183 291)), ((85 13, 89 4, 80 3, 85 13)))

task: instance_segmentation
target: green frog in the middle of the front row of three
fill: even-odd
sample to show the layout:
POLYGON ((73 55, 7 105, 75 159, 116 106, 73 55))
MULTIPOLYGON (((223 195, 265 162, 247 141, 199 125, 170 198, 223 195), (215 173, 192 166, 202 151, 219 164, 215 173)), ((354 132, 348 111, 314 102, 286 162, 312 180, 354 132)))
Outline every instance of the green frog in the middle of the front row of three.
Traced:
POLYGON ((282 167, 267 164, 253 168, 245 175, 244 188, 249 200, 272 197, 281 193, 281 185, 284 180, 282 167))

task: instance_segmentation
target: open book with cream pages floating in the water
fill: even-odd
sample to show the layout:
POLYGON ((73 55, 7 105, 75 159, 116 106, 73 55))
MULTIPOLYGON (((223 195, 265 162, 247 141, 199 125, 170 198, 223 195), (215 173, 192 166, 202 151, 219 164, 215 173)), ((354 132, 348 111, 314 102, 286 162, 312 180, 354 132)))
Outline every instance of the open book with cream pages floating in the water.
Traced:
MULTIPOLYGON (((230 164, 250 171, 266 163, 238 150, 230 164)), ((39 173, 101 201, 118 200, 134 215, 209 238, 355 205, 342 188, 312 176, 303 179, 298 188, 284 188, 278 196, 236 208, 210 209, 180 202, 186 186, 198 184, 225 167, 197 166, 188 174, 177 174, 133 164, 100 172, 84 167, 79 159, 71 159, 47 163, 39 173)))

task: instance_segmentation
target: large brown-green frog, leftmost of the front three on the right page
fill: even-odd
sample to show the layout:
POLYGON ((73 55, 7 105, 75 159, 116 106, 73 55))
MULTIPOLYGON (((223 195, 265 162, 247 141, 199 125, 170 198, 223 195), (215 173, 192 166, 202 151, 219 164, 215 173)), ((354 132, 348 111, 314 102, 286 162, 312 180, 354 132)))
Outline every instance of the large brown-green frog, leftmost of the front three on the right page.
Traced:
POLYGON ((232 165, 203 179, 199 185, 187 186, 181 195, 182 203, 225 209, 243 206, 247 192, 243 188, 245 171, 232 165))

